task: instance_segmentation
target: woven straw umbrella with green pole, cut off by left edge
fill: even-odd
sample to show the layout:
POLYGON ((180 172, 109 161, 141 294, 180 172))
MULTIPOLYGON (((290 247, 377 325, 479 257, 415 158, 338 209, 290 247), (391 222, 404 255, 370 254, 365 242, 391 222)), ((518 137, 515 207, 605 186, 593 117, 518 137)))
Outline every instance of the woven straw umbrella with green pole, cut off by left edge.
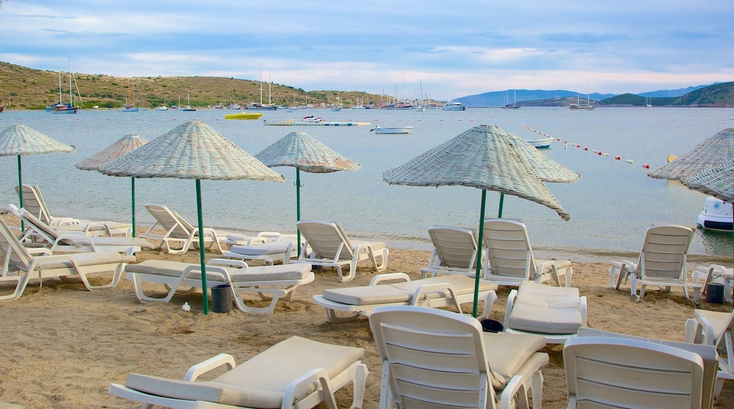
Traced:
MULTIPOLYGON (((63 144, 26 125, 11 125, 0 133, 0 156, 18 156, 18 188, 23 186, 21 155, 41 155, 44 153, 73 153, 75 147, 63 144)), ((23 195, 21 207, 23 207, 23 195)))

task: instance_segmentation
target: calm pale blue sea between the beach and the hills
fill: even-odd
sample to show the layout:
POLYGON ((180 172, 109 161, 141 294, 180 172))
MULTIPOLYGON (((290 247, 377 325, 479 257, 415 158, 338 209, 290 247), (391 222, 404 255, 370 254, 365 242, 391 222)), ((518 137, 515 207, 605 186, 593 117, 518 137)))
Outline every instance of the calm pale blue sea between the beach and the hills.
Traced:
MULTIPOLYGON (((355 172, 302 172, 302 219, 341 221, 354 237, 385 240, 390 246, 401 248, 429 249, 426 230, 433 224, 479 225, 480 191, 388 185, 382 181, 382 172, 476 125, 497 125, 525 139, 539 137, 524 124, 560 139, 543 152, 579 172, 581 180, 548 185, 571 214, 570 221, 562 221, 553 210, 515 196, 506 196, 504 217, 526 222, 540 257, 569 254, 572 259, 589 260, 593 259, 592 254, 639 251, 644 229, 653 222, 695 226, 705 196, 677 182, 647 177, 647 172, 664 165, 668 154, 688 152, 709 136, 734 126, 733 110, 724 108, 570 111, 523 107, 469 108, 457 112, 311 109, 273 111, 261 118, 299 119, 316 115, 333 122, 415 127, 408 135, 375 135, 370 126, 265 126, 262 120, 225 120, 225 114, 231 112, 85 110, 65 115, 5 111, 0 114, 0 129, 21 123, 77 147, 73 154, 22 158, 23 183, 39 185, 53 213, 118 221, 130 218, 131 181, 81 171, 73 165, 128 133, 152 140, 189 119, 200 119, 255 155, 289 132, 302 130, 362 165, 355 172), (597 155, 595 150, 605 155, 597 155), (616 160, 617 156, 621 159, 616 160)), ((0 169, 4 174, 0 200, 17 203, 15 157, 0 158, 0 169)), ((275 170, 286 177, 286 183, 203 181, 204 224, 243 232, 294 232, 295 169, 275 170)), ((192 180, 136 180, 136 202, 139 224, 153 223, 143 207, 150 202, 166 204, 196 221, 192 180)), ((496 215, 498 203, 499 194, 488 192, 487 217, 496 215)), ((730 234, 698 229, 691 254, 731 257, 732 248, 730 234)))

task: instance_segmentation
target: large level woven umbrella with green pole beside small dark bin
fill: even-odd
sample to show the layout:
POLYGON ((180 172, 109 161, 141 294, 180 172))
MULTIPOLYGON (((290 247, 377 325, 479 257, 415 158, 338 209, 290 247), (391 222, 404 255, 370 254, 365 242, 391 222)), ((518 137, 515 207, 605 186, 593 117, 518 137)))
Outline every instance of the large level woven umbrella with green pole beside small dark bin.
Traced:
POLYGON ((174 177, 196 180, 199 260, 204 314, 209 312, 204 258, 203 215, 200 180, 272 180, 285 178, 241 150, 209 125, 189 121, 178 125, 137 150, 101 166, 103 174, 122 177, 174 177))

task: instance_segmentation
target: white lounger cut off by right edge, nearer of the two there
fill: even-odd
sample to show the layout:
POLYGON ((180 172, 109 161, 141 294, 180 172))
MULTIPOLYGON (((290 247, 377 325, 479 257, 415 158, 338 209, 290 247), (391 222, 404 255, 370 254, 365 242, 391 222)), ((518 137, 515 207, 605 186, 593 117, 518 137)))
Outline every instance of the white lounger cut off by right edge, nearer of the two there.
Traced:
POLYGON ((713 392, 716 398, 722 393, 724 380, 734 379, 732 331, 734 331, 734 311, 694 309, 693 318, 686 320, 686 342, 713 345, 719 352, 719 374, 713 392))

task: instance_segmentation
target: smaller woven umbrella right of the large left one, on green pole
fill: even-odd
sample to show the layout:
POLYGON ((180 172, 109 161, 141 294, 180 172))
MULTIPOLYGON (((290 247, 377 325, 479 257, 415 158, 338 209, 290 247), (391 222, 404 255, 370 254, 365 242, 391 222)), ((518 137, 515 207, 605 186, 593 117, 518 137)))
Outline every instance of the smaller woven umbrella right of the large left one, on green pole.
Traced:
MULTIPOLYGON (((293 166, 296 168, 296 221, 301 220, 301 174, 330 173, 360 169, 358 163, 349 161, 330 147, 313 139, 308 133, 288 133, 255 155, 266 166, 293 166)), ((297 231, 298 253, 301 253, 301 232, 297 231)))

